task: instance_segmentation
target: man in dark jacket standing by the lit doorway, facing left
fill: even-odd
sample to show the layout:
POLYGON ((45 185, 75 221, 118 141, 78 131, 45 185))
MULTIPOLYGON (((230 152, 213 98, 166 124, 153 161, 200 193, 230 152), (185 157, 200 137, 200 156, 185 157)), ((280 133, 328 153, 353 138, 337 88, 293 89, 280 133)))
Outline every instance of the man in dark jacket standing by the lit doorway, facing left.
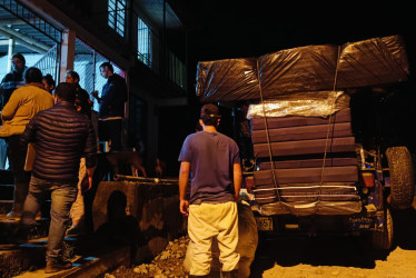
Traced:
POLYGON ((98 137, 100 141, 110 141, 110 150, 121 150, 125 102, 128 97, 126 80, 113 73, 112 64, 109 62, 101 63, 100 72, 107 79, 107 83, 102 87, 101 97, 98 97, 98 91, 92 92, 100 105, 98 137))

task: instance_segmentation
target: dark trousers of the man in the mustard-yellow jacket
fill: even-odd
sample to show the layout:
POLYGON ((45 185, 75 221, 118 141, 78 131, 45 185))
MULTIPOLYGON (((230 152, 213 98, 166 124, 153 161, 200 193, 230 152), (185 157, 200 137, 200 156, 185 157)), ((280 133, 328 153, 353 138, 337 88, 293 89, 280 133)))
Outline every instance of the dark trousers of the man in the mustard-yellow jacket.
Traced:
POLYGON ((26 152, 28 145, 20 143, 20 135, 7 138, 9 143, 8 157, 14 178, 14 196, 12 212, 21 214, 26 196, 28 195, 30 172, 24 171, 26 152))

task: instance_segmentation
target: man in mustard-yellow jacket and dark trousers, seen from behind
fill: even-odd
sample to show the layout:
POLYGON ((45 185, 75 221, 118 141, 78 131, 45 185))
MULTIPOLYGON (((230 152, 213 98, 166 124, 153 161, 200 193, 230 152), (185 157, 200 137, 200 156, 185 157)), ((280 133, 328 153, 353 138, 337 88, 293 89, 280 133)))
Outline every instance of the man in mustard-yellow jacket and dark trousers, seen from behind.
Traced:
POLYGON ((38 68, 29 68, 24 81, 26 86, 13 91, 1 111, 0 137, 8 141, 8 157, 14 178, 13 208, 7 215, 10 218, 21 216, 30 181, 30 172, 24 171, 28 146, 21 146, 20 135, 36 113, 53 107, 53 97, 43 89, 42 72, 38 68))

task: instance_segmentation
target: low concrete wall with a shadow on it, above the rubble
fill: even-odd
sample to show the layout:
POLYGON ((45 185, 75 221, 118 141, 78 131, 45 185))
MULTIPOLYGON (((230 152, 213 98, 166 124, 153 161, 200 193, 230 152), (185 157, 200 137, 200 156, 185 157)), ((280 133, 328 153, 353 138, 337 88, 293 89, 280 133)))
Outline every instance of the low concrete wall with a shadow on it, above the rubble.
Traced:
MULTIPOLYGON (((108 210, 110 199, 115 196, 122 196, 127 200, 122 214, 133 224, 132 230, 138 237, 136 261, 152 258, 170 240, 186 234, 187 218, 179 211, 178 185, 143 185, 131 181, 101 181, 98 185, 92 207, 96 232, 122 218, 117 216, 116 220, 111 219, 111 212, 115 214, 117 209, 108 210)), ((116 225, 116 232, 122 234, 119 229, 127 229, 123 224, 116 225)), ((131 225, 128 227, 131 228, 131 225)))

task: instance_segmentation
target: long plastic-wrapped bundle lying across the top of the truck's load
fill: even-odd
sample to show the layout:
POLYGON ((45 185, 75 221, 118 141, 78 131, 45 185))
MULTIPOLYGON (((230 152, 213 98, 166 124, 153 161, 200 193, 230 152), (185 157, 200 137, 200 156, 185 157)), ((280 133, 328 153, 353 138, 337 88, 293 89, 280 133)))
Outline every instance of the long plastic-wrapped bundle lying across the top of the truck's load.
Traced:
POLYGON ((259 58, 201 61, 197 96, 201 102, 268 99, 400 82, 408 73, 403 38, 390 36, 280 50, 259 58))

